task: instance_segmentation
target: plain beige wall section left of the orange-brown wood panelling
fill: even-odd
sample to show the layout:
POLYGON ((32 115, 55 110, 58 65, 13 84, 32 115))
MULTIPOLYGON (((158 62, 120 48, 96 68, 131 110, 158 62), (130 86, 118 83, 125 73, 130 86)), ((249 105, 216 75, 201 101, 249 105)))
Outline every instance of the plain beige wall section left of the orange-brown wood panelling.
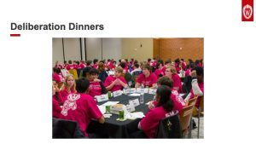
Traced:
POLYGON ((153 58, 153 38, 123 38, 122 58, 146 61, 153 58))

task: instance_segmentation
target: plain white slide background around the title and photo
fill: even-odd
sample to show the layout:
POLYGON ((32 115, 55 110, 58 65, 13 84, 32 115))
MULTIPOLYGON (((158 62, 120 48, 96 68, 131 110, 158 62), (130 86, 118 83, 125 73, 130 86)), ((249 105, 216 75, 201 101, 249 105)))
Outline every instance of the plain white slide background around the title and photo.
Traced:
POLYGON ((241 21, 241 0, 10 0, 0 12, 1 143, 135 142, 51 139, 52 37, 204 37, 204 139, 163 141, 255 141, 256 21, 241 21), (103 24, 104 30, 11 31, 11 22, 103 24))

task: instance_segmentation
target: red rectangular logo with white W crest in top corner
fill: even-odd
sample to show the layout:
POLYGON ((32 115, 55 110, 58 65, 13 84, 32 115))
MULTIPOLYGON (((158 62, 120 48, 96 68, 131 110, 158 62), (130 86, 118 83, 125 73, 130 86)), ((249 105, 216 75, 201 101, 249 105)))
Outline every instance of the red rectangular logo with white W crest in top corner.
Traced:
POLYGON ((241 20, 253 21, 253 0, 241 0, 241 20))

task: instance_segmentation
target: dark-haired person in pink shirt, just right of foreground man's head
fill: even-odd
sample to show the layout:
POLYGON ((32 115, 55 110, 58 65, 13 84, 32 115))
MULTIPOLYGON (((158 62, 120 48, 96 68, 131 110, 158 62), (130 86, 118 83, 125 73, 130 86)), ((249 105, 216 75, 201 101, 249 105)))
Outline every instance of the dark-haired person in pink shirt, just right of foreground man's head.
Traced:
POLYGON ((89 71, 89 95, 93 97, 107 93, 107 89, 105 88, 104 84, 102 84, 102 81, 98 79, 98 73, 99 72, 95 68, 91 68, 89 71))

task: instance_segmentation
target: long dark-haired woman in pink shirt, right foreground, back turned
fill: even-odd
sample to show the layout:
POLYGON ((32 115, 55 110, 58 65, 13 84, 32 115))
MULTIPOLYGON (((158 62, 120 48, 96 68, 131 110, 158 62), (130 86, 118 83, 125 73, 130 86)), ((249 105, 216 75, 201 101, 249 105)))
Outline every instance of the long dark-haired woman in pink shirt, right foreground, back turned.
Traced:
POLYGON ((171 93, 171 89, 166 85, 158 87, 156 90, 157 106, 147 112, 146 116, 139 122, 138 129, 131 132, 131 138, 154 138, 160 121, 166 116, 174 114, 173 103, 170 99, 171 93))

